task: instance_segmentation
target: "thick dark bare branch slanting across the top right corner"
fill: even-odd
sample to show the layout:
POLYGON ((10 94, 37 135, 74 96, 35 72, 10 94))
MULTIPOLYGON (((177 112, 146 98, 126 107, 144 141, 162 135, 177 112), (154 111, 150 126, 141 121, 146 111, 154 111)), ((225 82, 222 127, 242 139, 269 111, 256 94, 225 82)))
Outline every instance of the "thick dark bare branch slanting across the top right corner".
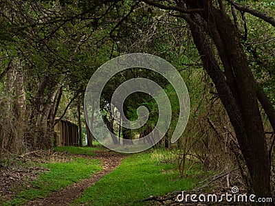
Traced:
POLYGON ((248 6, 245 5, 240 5, 239 3, 236 3, 234 0, 225 0, 231 3, 231 5, 234 5, 234 8, 236 10, 239 10, 241 12, 246 12, 249 14, 252 14, 253 16, 259 17, 260 19, 263 19, 263 21, 266 21, 267 23, 270 23, 275 27, 275 19, 272 16, 268 16, 267 14, 263 12, 256 11, 248 6))

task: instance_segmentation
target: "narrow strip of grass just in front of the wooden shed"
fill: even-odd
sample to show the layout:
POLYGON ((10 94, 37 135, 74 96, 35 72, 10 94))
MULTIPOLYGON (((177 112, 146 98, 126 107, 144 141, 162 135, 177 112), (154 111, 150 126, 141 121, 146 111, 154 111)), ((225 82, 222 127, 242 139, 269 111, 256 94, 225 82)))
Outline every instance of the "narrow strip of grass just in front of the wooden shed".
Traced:
POLYGON ((100 147, 95 147, 95 148, 89 148, 89 147, 74 147, 74 146, 60 146, 60 147, 55 147, 54 151, 56 152, 68 152, 68 154, 72 155, 90 155, 94 156, 96 155, 94 151, 99 150, 100 147))

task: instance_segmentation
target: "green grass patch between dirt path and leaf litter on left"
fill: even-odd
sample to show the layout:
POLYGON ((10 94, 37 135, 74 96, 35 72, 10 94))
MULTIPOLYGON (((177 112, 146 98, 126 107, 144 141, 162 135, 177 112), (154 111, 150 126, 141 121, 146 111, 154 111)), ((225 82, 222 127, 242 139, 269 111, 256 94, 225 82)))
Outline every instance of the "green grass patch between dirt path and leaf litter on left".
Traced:
POLYGON ((86 159, 84 157, 72 157, 72 161, 64 163, 45 163, 40 166, 49 168, 50 172, 44 172, 39 177, 28 183, 30 188, 25 187, 12 201, 0 205, 22 205, 37 197, 47 196, 50 192, 58 191, 67 185, 72 185, 81 179, 87 179, 100 170, 100 161, 86 159))

